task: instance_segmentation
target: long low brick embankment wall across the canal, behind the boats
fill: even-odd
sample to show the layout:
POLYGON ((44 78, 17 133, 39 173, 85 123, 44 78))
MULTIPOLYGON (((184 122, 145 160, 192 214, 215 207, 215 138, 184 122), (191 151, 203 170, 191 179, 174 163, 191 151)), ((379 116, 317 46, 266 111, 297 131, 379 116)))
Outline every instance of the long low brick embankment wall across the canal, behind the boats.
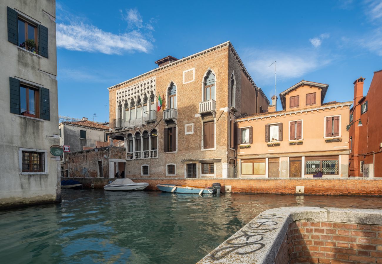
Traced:
MULTIPOLYGON (((62 178, 69 179, 69 178, 62 178)), ((73 179, 73 178, 70 178, 73 179)), ((103 188, 109 178, 74 178, 84 182, 84 187, 103 188)), ((382 195, 382 179, 365 178, 285 178, 285 179, 235 179, 235 178, 131 178, 134 182, 148 182, 146 190, 158 190, 156 185, 181 184, 193 186, 211 186, 214 182, 233 193, 275 193, 275 194, 304 194, 304 195, 382 195), (303 189, 300 187, 304 187, 303 189), (296 187, 297 192, 296 192, 296 187), (301 192, 298 192, 301 190, 301 192), (303 190, 303 191, 302 191, 303 190)))

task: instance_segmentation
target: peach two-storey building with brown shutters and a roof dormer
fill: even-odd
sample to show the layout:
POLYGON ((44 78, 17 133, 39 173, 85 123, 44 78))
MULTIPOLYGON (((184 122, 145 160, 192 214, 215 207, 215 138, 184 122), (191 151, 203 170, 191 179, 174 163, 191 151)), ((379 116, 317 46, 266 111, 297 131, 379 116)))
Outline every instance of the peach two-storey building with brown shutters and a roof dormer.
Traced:
POLYGON ((236 119, 237 166, 241 178, 348 177, 352 102, 324 103, 329 85, 301 80, 272 97, 268 113, 236 119))

